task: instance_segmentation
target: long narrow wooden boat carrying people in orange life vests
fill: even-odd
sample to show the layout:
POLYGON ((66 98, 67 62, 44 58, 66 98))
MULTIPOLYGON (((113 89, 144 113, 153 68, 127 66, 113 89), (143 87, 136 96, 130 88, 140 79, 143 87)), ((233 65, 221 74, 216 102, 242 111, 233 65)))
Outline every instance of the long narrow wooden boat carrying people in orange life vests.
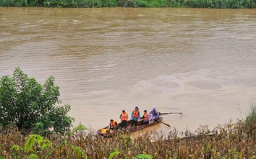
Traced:
MULTIPOLYGON (((150 124, 140 124, 140 121, 137 122, 137 127, 135 127, 135 125, 133 127, 131 127, 131 124, 132 124, 132 120, 128 120, 127 121, 127 130, 124 130, 125 133, 131 133, 131 132, 136 132, 138 130, 142 130, 146 127, 151 127, 155 124, 158 124, 159 122, 161 122, 163 120, 163 117, 159 117, 157 120, 155 120, 154 122, 150 122, 150 124)), ((121 123, 118 124, 118 128, 117 130, 114 130, 114 131, 108 131, 108 132, 105 132, 103 130, 107 130, 108 129, 108 126, 107 127, 103 127, 102 129, 98 130, 98 135, 101 135, 103 137, 113 137, 118 131, 121 130, 121 123)))

